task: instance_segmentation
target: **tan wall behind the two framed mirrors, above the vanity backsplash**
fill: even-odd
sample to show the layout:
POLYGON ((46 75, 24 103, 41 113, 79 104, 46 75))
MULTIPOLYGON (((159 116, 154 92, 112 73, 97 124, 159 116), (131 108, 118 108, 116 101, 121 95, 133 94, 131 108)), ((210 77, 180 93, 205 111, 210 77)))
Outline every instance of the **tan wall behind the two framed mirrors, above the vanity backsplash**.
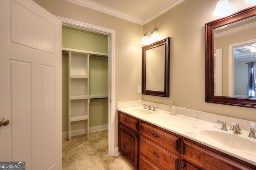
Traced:
POLYGON ((142 100, 171 104, 256 121, 255 109, 204 102, 205 23, 218 19, 213 0, 186 0, 144 25, 144 31, 158 28, 162 38, 170 37, 170 98, 142 95, 142 100))

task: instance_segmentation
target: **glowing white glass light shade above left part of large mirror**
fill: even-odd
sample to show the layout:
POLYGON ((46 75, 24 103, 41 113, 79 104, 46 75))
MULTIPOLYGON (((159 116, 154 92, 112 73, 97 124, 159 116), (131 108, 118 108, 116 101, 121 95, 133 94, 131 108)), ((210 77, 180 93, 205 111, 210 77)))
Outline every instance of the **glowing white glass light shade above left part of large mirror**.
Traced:
POLYGON ((226 16, 233 12, 228 0, 218 0, 216 8, 213 12, 214 16, 226 16))

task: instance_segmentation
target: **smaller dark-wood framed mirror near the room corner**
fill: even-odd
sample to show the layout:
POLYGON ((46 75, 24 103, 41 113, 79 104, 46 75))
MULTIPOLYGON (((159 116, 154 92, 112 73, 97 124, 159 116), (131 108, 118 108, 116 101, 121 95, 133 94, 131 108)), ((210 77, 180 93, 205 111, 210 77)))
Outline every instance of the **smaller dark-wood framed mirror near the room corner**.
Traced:
POLYGON ((169 97, 170 38, 142 47, 142 94, 169 97))

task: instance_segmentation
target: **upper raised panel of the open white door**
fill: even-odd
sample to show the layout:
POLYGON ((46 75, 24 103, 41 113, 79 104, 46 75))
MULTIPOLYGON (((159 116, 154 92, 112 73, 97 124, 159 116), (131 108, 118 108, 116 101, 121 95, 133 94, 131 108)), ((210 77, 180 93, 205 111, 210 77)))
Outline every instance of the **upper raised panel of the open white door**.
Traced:
POLYGON ((11 42, 53 54, 54 25, 24 6, 11 2, 11 42))

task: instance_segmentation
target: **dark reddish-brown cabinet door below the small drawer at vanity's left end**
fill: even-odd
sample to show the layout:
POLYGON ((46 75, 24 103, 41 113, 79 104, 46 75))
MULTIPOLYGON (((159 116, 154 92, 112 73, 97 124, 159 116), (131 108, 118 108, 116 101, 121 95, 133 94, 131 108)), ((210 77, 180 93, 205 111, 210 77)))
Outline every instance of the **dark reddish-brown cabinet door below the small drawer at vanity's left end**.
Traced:
POLYGON ((118 151, 138 168, 138 134, 119 124, 118 151))

